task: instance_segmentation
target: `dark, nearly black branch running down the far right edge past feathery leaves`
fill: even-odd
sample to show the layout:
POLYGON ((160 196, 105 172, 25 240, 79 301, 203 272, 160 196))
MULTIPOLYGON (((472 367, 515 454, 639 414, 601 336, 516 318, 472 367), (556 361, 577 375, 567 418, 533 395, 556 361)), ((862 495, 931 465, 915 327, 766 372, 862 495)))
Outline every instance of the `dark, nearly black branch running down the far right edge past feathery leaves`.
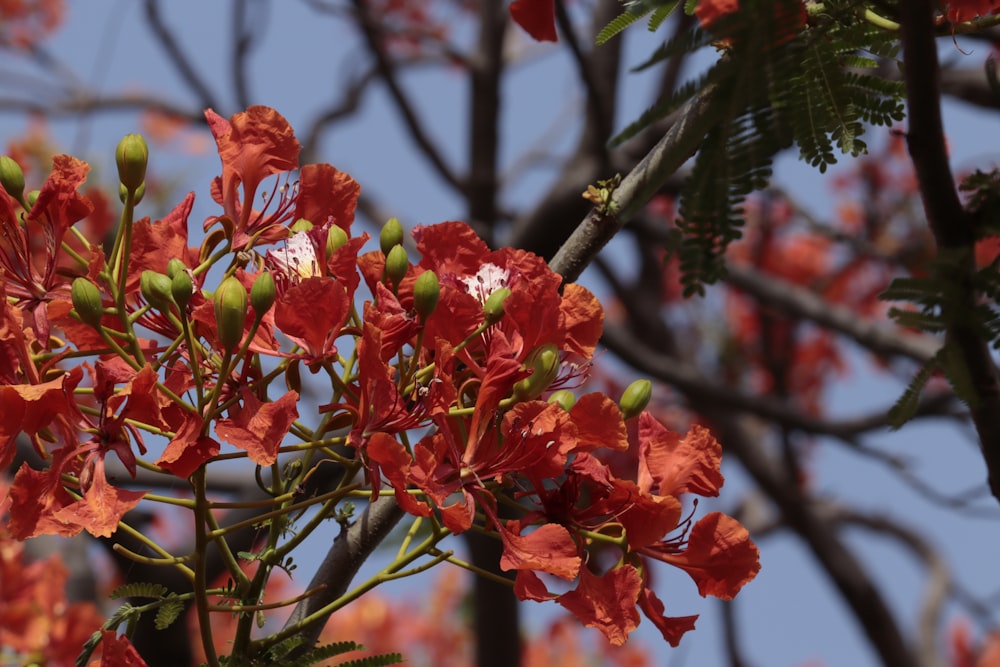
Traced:
POLYGON ((988 342, 975 323, 962 315, 975 307, 972 278, 976 270, 976 232, 972 216, 962 208, 948 162, 934 37, 935 4, 933 0, 909 0, 900 3, 899 10, 909 121, 907 147, 938 248, 956 258, 952 275, 944 279, 954 280, 964 288, 961 302, 948 304, 958 315, 951 318, 946 345, 961 355, 974 388, 972 420, 979 434, 990 489, 1000 500, 1000 378, 988 342))

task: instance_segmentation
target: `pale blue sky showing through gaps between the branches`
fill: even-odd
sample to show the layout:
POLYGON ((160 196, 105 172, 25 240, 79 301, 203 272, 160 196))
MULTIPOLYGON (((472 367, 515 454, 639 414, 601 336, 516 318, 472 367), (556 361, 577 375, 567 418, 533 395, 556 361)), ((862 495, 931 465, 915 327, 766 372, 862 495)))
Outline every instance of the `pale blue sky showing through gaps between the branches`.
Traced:
MULTIPOLYGON (((164 17, 188 53, 194 54, 196 67, 211 82, 226 80, 229 69, 229 28, 226 12, 229 3, 171 0, 164 5, 164 17)), ((293 127, 305 127, 317 109, 335 99, 338 80, 346 72, 357 71, 351 58, 357 39, 337 32, 337 23, 317 19, 305 3, 273 3, 275 8, 257 17, 263 29, 259 45, 251 58, 252 102, 277 108, 293 127)), ((141 20, 141 3, 129 0, 89 0, 69 3, 70 18, 53 40, 51 48, 77 75, 104 91, 144 90, 166 96, 190 96, 181 81, 165 65, 154 48, 141 20)), ((256 3, 251 2, 251 6, 256 3)), ((261 4, 261 6, 263 6, 261 4)), ((626 62, 638 62, 654 44, 655 36, 641 34, 626 62)), ((575 112, 579 92, 575 79, 566 69, 561 51, 521 39, 517 48, 527 50, 529 64, 521 66, 505 84, 502 163, 510 166, 525 150, 539 142, 546 145, 570 145, 574 138, 575 112)), ((967 46, 967 45, 963 45, 967 46)), ((943 47, 950 49, 948 47, 943 47)), ((969 50, 966 48, 966 50, 969 50)), ((973 53, 955 57, 979 62, 973 53)), ((6 64, 5 71, 13 69, 6 64)), ((419 109, 430 133, 440 140, 447 157, 456 167, 464 160, 466 86, 459 71, 417 69, 405 80, 407 89, 416 95, 419 109)), ((622 100, 625 109, 621 120, 635 116, 648 102, 648 79, 629 76, 625 79, 622 100)), ((226 89, 228 90, 228 88, 226 89)), ((223 103, 232 111, 231 97, 223 103)), ((192 104, 192 108, 194 105, 192 104)), ((990 166, 997 162, 997 146, 984 138, 997 136, 995 119, 981 112, 950 104, 947 109, 949 139, 960 166, 990 166)), ((85 159, 92 159, 99 170, 112 164, 114 145, 125 133, 139 129, 131 113, 95 116, 81 124, 61 121, 52 128, 60 144, 85 159)), ((12 115, 0 115, 0 139, 15 137, 26 127, 25 121, 12 115)), ((207 136, 207 134, 206 134, 207 136)), ((871 143, 875 143, 873 138, 871 143)), ((211 147, 211 143, 209 143, 211 147)), ((461 219, 463 210, 449 196, 446 186, 430 174, 426 163, 414 155, 412 143, 387 105, 387 96, 379 88, 371 91, 361 113, 332 132, 322 146, 322 159, 338 169, 350 172, 366 192, 373 193, 387 209, 407 225, 461 219)), ((197 226, 214 211, 208 197, 209 180, 218 174, 219 164, 212 152, 190 156, 169 150, 152 153, 152 169, 176 177, 183 188, 198 193, 192 216, 197 226)), ((107 172, 110 173, 110 172, 107 172)), ((517 187, 507 193, 508 205, 531 202, 552 178, 545 169, 531 169, 520 174, 517 187)), ((798 163, 794 157, 783 158, 776 179, 793 189, 802 200, 811 202, 818 213, 831 212, 834 204, 824 177, 798 163)), ((179 199, 179 197, 178 197, 179 199)), ((888 407, 901 391, 898 381, 872 373, 864 358, 852 355, 854 370, 829 395, 831 411, 851 414, 875 406, 888 407)), ((974 441, 967 432, 952 427, 913 424, 894 434, 870 439, 870 443, 894 453, 913 456, 919 470, 936 488, 958 491, 982 483, 984 473, 974 441)), ((703 503, 702 511, 726 508, 740 498, 748 484, 733 466, 726 467, 728 483, 719 503, 703 503)), ((1000 587, 995 576, 1000 562, 998 517, 960 518, 942 510, 912 491, 884 468, 859 463, 857 455, 839 444, 823 443, 814 453, 812 472, 816 488, 831 497, 849 498, 856 505, 873 512, 900 518, 921 532, 952 559, 953 573, 969 590, 984 593, 1000 587)), ((986 507, 992 504, 985 503, 986 507)), ((994 508, 995 509, 995 508, 994 508)), ((319 549, 329 544, 329 534, 316 540, 319 549)), ((919 563, 893 543, 870 533, 848 531, 847 539, 858 546, 880 584, 884 585, 892 607, 904 620, 907 632, 915 627, 924 573, 919 563)), ((758 665, 793 667, 809 660, 822 664, 863 667, 876 664, 864 637, 846 615, 837 594, 825 576, 813 564, 803 547, 787 535, 769 537, 760 542, 763 569, 758 579, 737 599, 737 614, 750 649, 749 657, 758 665)), ((297 559, 301 577, 309 567, 307 558, 297 559)), ((422 580, 430 581, 430 578, 422 580)), ((717 619, 718 603, 703 600, 693 584, 679 573, 663 573, 661 592, 669 613, 703 614, 698 630, 685 637, 682 648, 669 651, 645 623, 637 635, 661 651, 655 664, 722 664, 721 634, 717 619)), ((304 583, 304 581, 303 581, 304 583)), ((407 581, 398 586, 412 593, 421 581, 407 581)), ((392 589, 390 589, 392 590, 392 589)), ((552 611, 552 607, 528 605, 532 618, 552 611)))

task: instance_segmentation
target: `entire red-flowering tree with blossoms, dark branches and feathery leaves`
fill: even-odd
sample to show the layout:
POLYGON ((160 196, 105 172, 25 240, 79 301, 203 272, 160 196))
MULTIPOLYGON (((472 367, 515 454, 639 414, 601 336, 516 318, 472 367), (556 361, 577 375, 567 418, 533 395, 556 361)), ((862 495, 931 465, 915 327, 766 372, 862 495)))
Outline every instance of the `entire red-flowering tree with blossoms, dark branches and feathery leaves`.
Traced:
MULTIPOLYGON (((190 106, 78 88, 40 109, 0 99, 53 115, 150 109, 161 123, 207 127, 221 161, 197 193, 141 217, 160 191, 155 150, 139 135, 118 144, 111 193, 86 184, 81 159, 37 159, 27 138, 0 159, 0 459, 12 473, 0 567, 3 582, 19 581, 0 589, 5 655, 391 664, 406 646, 358 657, 360 631, 324 627, 380 584, 446 563, 480 575, 478 664, 531 659, 515 599, 554 601, 613 646, 641 613, 676 646, 696 616, 657 593, 657 561, 724 600, 760 567, 744 525, 693 499, 719 494, 725 450, 769 501, 761 511, 759 496, 748 496, 744 523, 801 539, 884 664, 943 656, 941 601, 921 618, 923 639, 907 641, 839 528, 893 536, 929 564, 933 548, 894 520, 822 497, 803 457, 814 438, 836 438, 930 495, 906 463, 862 439, 943 416, 975 426, 980 476, 983 462, 991 480, 1000 466, 989 353, 996 179, 967 179, 963 206, 947 167, 934 41, 989 28, 993 3, 610 1, 587 16, 545 0, 307 4, 340 16, 370 65, 300 131, 301 143, 278 111, 251 104, 255 23, 244 2, 234 3, 231 115, 213 110, 216 92, 155 0, 144 18, 190 87, 190 106), (472 47, 449 16, 474 23, 472 47), (646 16, 675 33, 649 63, 665 66, 664 94, 611 148, 622 37, 646 16), (534 39, 565 44, 585 96, 562 173, 516 211, 502 204, 498 160, 500 91, 516 57, 504 43, 536 47, 511 18, 534 39), (585 46, 585 19, 601 46, 585 46), (902 81, 880 69, 900 44, 902 81), (714 64, 679 85, 681 64, 699 50, 714 64), (457 66, 471 83, 464 170, 416 112, 402 71, 414 63, 457 66), (384 202, 362 196, 363 179, 313 161, 323 132, 376 80, 470 224, 407 234, 395 218, 384 222, 384 202), (817 221, 770 187, 779 151, 794 144, 821 169, 838 150, 863 154, 865 124, 898 122, 903 99, 908 129, 841 177, 854 199, 836 220, 817 221), (206 199, 210 212, 192 219, 206 199), (359 209, 377 224, 377 242, 355 222, 359 209), (599 254, 623 228, 636 241, 631 272, 599 254), (576 282, 591 263, 614 306, 607 317, 576 282), (893 280, 886 294, 911 305, 878 301, 893 280), (933 332, 946 333, 943 346, 933 332), (845 339, 883 365, 918 362, 901 371, 916 380, 892 410, 829 416, 824 392, 846 363, 845 339), (595 357, 599 345, 663 390, 623 381, 620 366, 595 357), (240 479, 227 483, 237 466, 240 479), (154 539, 151 519, 167 508, 189 541, 154 539), (279 586, 328 520, 340 531, 311 581, 279 586), (402 535, 394 555, 357 577, 393 531, 402 535), (25 552, 40 536, 84 532, 125 579, 113 597, 127 601, 103 616, 65 602, 67 558, 31 562, 25 552), (39 576, 43 567, 56 576, 39 576)), ((3 11, 5 47, 63 76, 42 46, 60 5, 3 11)), ((991 71, 952 90, 995 104, 991 71)), ((958 588, 938 598, 948 593, 963 599, 958 588)), ((981 610, 971 597, 967 606, 981 610)), ((988 625, 988 613, 979 617, 988 625)), ((724 619, 731 662, 742 664, 735 616, 724 619)), ((956 635, 956 661, 976 650, 967 636, 956 635)))

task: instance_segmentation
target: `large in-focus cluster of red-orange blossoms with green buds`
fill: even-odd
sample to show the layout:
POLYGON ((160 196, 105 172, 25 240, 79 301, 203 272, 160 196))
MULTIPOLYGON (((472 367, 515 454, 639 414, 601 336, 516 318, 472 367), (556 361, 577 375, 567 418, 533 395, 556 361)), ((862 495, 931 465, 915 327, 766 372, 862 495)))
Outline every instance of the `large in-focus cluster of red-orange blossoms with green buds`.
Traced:
MULTIPOLYGON (((583 386, 601 333, 594 295, 562 284, 536 255, 491 250, 460 222, 416 228, 417 261, 395 220, 363 252, 368 235, 352 230, 358 184, 330 165, 300 167, 276 111, 206 117, 222 174, 199 247, 188 245, 193 194, 160 220, 134 219, 141 137, 119 145, 124 214, 107 253, 74 227, 92 210, 78 192, 85 164, 59 156, 41 190, 25 194, 17 165, 0 160, 0 462, 14 459, 20 433, 46 461, 13 480, 11 536, 110 537, 144 498, 165 501, 113 480, 114 455, 132 477, 142 467, 191 483, 193 500, 175 502, 193 509, 202 546, 184 558, 150 548, 164 564, 191 561, 197 580, 203 545, 227 549, 208 468, 242 457, 272 499, 253 556, 264 572, 323 518, 350 521, 348 498, 393 494, 432 526, 407 558, 448 560, 436 546, 447 535, 491 533, 519 597, 555 599, 613 644, 638 610, 671 644, 693 627, 695 617, 664 615, 653 561, 721 598, 754 577, 747 531, 719 513, 695 521, 682 502, 722 485, 711 434, 695 426, 681 436, 643 412, 645 381, 617 402, 570 391, 583 386), (323 379, 318 412, 300 400, 303 370, 323 379), (155 449, 151 436, 162 441, 155 449), (608 457, 629 448, 636 468, 613 471, 608 457), (345 472, 336 488, 304 497, 331 464, 345 472), (295 524, 310 506, 317 519, 295 524), (601 567, 595 554, 609 550, 614 565, 601 567)), ((266 578, 239 567, 246 555, 226 556, 233 587, 190 594, 202 620, 220 611, 210 594, 254 610, 263 597, 266 578)), ((249 631, 237 637, 249 642, 249 631)))

